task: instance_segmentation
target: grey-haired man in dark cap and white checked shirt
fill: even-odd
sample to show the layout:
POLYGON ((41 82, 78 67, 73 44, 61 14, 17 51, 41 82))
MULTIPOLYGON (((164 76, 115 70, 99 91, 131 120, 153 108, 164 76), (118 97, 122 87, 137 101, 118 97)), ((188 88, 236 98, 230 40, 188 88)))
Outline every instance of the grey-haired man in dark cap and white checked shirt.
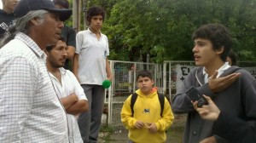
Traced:
POLYGON ((51 83, 44 49, 57 43, 70 9, 20 0, 0 45, 0 142, 67 143, 67 116, 51 83))

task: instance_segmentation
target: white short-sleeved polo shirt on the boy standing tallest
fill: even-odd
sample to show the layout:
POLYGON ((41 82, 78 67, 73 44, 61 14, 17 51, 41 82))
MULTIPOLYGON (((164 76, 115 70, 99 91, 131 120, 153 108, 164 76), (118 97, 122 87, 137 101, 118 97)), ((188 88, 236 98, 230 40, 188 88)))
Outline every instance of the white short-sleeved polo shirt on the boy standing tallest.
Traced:
POLYGON ((76 43, 75 53, 79 54, 79 82, 102 85, 102 82, 107 79, 108 37, 101 33, 98 40, 96 34, 88 29, 78 32, 76 43))

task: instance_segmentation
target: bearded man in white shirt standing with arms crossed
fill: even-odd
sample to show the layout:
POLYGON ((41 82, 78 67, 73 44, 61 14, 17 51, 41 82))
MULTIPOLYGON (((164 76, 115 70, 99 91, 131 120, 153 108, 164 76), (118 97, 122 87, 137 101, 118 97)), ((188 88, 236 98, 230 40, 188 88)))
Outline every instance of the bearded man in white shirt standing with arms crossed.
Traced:
POLYGON ((79 125, 75 115, 88 109, 84 89, 72 72, 63 68, 67 60, 67 44, 64 37, 56 45, 48 46, 44 51, 47 54, 46 65, 54 84, 57 95, 67 112, 69 127, 69 141, 83 143, 79 132, 79 125))

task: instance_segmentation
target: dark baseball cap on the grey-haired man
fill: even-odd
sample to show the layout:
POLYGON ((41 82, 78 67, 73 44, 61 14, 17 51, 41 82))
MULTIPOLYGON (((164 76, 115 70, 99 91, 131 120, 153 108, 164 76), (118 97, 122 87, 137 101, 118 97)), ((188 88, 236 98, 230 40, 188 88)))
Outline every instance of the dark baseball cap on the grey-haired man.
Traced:
POLYGON ((47 10, 59 14, 61 21, 67 20, 72 14, 71 9, 57 9, 55 4, 50 0, 20 0, 15 7, 15 18, 20 18, 33 10, 47 10))

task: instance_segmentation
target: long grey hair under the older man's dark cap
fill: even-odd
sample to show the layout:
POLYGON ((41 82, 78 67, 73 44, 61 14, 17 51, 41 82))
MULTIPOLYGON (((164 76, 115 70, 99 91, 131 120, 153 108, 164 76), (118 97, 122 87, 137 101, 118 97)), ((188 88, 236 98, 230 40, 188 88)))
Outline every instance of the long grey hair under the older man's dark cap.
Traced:
POLYGON ((29 21, 33 18, 38 18, 39 24, 44 22, 45 14, 49 12, 46 10, 35 10, 30 11, 25 16, 15 19, 15 22, 12 26, 9 26, 9 30, 5 32, 3 39, 0 41, 0 49, 6 44, 9 43, 12 39, 15 38, 18 32, 23 32, 27 34, 31 26, 29 21))

